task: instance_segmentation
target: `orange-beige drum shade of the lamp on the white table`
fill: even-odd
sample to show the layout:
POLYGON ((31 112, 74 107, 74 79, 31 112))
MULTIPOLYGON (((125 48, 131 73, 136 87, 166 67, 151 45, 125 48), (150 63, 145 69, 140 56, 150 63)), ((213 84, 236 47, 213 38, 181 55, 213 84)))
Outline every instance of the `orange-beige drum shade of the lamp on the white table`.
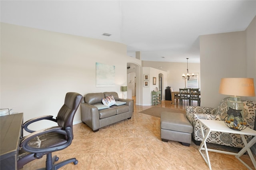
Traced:
POLYGON ((219 93, 232 96, 255 96, 253 78, 222 78, 219 93))

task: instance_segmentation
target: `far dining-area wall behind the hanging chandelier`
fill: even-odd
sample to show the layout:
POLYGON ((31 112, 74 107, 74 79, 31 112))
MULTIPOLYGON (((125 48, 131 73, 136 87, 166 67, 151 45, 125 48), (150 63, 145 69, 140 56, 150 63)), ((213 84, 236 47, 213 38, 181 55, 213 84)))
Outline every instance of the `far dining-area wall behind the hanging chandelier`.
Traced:
MULTIPOLYGON (((186 59, 184 59, 186 61, 186 59)), ((189 62, 189 59, 188 59, 189 62)), ((187 71, 187 63, 174 63, 174 62, 160 62, 160 61, 142 61, 143 67, 152 67, 166 71, 167 73, 167 84, 174 89, 179 91, 180 88, 185 87, 185 80, 182 79, 182 74, 187 71), (162 67, 162 68, 159 68, 162 67)), ((199 73, 200 77, 200 63, 188 63, 188 71, 190 73, 199 73)), ((166 88, 163 86, 163 90, 166 88)), ((199 81, 200 87, 200 81, 199 81)))

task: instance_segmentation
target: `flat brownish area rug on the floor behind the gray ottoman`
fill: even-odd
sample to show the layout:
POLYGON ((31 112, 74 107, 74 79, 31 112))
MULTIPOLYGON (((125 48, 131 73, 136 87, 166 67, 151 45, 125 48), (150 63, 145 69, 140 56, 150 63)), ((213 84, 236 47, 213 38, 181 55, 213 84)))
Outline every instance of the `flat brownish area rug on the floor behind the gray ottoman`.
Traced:
POLYGON ((186 110, 180 110, 180 109, 170 109, 165 107, 151 107, 149 109, 146 109, 144 111, 140 111, 139 113, 143 113, 146 115, 151 115, 154 117, 161 117, 162 112, 174 112, 174 113, 186 113, 186 110))

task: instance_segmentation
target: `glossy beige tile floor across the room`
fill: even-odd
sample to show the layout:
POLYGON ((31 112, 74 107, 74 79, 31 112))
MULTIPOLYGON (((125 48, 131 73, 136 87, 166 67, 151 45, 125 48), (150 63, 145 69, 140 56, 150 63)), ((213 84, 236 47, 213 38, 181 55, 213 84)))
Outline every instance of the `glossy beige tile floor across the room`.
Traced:
MULTIPOLYGON (((196 102, 193 105, 197 105, 196 102)), ((184 109, 179 104, 163 101, 158 106, 184 109)), ((152 106, 134 105, 132 119, 120 121, 100 128, 98 132, 85 124, 74 125, 72 144, 58 152, 59 161, 76 157, 78 164, 72 163, 60 168, 64 170, 207 170, 208 166, 192 142, 182 146, 179 142, 162 142, 160 139, 160 118, 139 113, 152 106)), ((210 144, 211 148, 233 150, 230 147, 210 144)), ((235 156, 209 152, 213 170, 246 170, 235 156)), ((254 155, 256 158, 256 156, 254 155)), ((44 156, 23 167, 34 170, 45 166, 44 156)), ((254 169, 248 154, 242 160, 254 169)))

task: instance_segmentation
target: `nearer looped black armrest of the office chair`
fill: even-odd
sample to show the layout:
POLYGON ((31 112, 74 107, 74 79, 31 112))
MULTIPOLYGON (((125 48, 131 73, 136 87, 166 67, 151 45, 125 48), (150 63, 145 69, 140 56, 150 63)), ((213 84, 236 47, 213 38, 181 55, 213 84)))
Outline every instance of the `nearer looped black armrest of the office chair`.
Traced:
MULTIPOLYGON (((20 142, 20 147, 22 147, 25 151, 30 152, 30 153, 49 153, 49 152, 54 152, 57 150, 62 150, 66 147, 68 147, 71 142, 72 142, 72 130, 70 127, 67 127, 65 130, 62 130, 61 127, 50 127, 50 128, 45 128, 36 132, 32 132, 31 134, 29 134, 28 136, 25 136, 24 138, 22 138, 21 142, 20 142), (34 148, 29 146, 29 142, 30 140, 32 140, 33 138, 36 138, 37 136, 40 136, 42 134, 46 134, 49 132, 56 132, 56 133, 60 133, 60 134, 64 134, 67 136, 67 142, 65 144, 61 144, 60 146, 52 146, 52 147, 48 147, 48 148, 40 148, 40 146, 38 148, 34 148)), ((40 145, 40 139, 38 138, 38 144, 40 145)), ((43 139, 42 139, 43 140, 43 139)))

